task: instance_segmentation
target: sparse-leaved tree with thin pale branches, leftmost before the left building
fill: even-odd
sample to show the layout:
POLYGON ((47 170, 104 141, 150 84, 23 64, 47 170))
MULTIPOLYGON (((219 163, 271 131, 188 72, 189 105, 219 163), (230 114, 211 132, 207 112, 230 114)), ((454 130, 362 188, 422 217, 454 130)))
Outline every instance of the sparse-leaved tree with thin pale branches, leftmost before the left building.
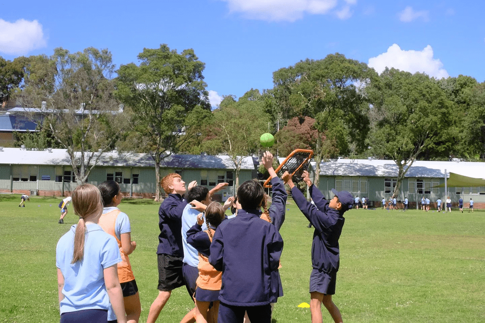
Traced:
POLYGON ((44 118, 43 130, 67 150, 76 182, 85 183, 125 128, 113 96, 111 53, 89 47, 71 54, 59 47, 49 59, 23 62, 25 80, 18 93, 22 105, 36 108, 33 118, 44 118))

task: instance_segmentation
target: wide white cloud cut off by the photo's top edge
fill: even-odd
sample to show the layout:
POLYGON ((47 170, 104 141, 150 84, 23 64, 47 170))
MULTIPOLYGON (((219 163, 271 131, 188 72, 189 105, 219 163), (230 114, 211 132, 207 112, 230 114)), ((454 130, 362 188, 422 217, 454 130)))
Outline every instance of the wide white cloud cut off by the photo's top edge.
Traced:
POLYGON ((356 0, 222 0, 227 2, 230 13, 241 13, 249 19, 266 21, 296 21, 304 15, 326 15, 333 13, 339 2, 343 9, 335 14, 340 19, 352 15, 350 6, 356 0))

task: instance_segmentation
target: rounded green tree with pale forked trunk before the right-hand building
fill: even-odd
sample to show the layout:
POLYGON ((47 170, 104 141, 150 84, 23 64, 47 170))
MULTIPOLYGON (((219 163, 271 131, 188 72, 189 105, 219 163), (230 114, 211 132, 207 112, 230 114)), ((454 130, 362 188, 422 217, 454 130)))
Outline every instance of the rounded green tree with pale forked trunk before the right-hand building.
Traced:
POLYGON ((417 156, 447 136, 450 101, 425 74, 386 69, 368 92, 373 97, 369 144, 375 156, 392 159, 398 167, 393 196, 417 156))

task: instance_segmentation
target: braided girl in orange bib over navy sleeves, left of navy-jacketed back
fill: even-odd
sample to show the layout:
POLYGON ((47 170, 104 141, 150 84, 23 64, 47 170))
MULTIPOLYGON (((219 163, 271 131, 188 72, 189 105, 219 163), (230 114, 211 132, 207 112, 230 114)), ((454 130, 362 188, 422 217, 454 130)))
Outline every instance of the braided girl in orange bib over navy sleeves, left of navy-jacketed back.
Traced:
POLYGON ((199 252, 199 277, 197 278, 197 288, 194 294, 196 323, 207 323, 210 302, 213 304, 212 310, 210 311, 214 316, 212 317, 212 322, 217 322, 222 272, 215 270, 209 263, 209 248, 212 242, 212 236, 225 216, 225 210, 222 205, 219 202, 212 202, 207 206, 205 211, 207 230, 202 231, 204 218, 201 213, 197 216, 197 223, 187 231, 187 243, 199 252))

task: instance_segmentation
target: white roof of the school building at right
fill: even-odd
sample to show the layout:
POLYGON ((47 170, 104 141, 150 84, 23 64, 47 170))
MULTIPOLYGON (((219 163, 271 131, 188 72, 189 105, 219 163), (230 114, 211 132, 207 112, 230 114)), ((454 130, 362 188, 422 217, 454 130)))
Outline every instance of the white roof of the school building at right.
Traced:
MULTIPOLYGON (((315 162, 312 162, 315 169, 315 162)), ((417 160, 405 174, 405 177, 447 177, 450 172, 474 177, 485 178, 485 163, 464 161, 421 161, 417 160)), ((333 159, 320 164, 322 176, 376 176, 397 177, 398 167, 392 160, 379 159, 333 159)))

